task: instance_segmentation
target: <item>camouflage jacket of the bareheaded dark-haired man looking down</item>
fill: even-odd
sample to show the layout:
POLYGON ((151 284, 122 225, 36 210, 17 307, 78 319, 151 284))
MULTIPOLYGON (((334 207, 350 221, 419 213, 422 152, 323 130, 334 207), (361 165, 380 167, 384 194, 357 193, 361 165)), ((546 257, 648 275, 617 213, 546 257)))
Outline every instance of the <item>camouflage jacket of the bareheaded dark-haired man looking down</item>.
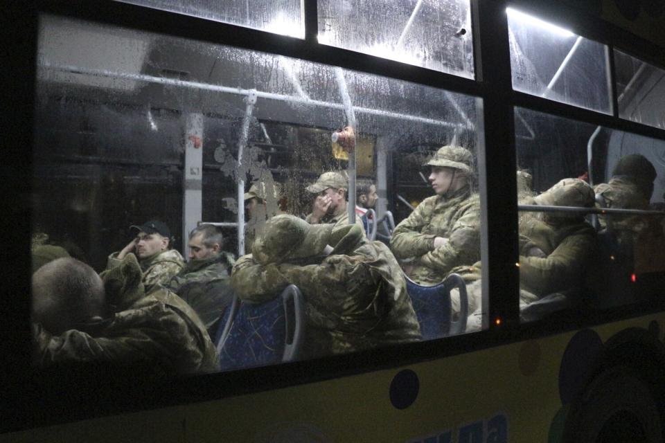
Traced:
POLYGON ((229 276, 235 262, 233 255, 226 252, 203 260, 190 260, 164 286, 185 300, 206 328, 210 328, 233 300, 229 276))

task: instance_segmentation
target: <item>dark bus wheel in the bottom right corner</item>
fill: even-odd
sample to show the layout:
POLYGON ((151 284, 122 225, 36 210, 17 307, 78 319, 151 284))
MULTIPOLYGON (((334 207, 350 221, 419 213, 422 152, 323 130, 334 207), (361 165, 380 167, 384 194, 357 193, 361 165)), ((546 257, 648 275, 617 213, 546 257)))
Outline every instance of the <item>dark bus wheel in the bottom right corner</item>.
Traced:
POLYGON ((650 387, 627 366, 598 374, 574 410, 570 442, 663 442, 660 413, 650 387))

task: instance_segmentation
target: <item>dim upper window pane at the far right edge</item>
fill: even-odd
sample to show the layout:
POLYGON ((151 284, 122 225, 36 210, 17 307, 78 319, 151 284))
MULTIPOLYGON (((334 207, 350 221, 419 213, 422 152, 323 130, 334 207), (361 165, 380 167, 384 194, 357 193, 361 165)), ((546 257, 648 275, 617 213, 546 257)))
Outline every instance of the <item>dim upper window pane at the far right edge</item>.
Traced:
POLYGON ((665 129, 665 71, 614 50, 619 117, 665 129))

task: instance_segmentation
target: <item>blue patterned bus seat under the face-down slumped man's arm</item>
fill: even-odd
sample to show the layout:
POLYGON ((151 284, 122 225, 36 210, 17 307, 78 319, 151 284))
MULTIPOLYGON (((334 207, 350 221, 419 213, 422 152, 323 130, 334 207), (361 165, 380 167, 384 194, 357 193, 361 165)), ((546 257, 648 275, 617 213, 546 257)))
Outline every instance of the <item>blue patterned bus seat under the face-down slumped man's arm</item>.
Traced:
POLYGON ((236 296, 225 313, 218 353, 221 370, 250 368, 298 359, 305 328, 303 296, 290 284, 261 305, 236 296))

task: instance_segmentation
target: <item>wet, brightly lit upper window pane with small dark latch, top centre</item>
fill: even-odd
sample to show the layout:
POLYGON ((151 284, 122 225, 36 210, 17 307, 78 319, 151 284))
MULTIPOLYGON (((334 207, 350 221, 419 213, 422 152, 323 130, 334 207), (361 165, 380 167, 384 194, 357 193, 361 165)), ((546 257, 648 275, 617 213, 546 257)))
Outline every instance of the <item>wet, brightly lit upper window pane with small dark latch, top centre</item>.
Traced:
POLYGON ((468 0, 319 0, 319 43, 473 78, 468 0))

